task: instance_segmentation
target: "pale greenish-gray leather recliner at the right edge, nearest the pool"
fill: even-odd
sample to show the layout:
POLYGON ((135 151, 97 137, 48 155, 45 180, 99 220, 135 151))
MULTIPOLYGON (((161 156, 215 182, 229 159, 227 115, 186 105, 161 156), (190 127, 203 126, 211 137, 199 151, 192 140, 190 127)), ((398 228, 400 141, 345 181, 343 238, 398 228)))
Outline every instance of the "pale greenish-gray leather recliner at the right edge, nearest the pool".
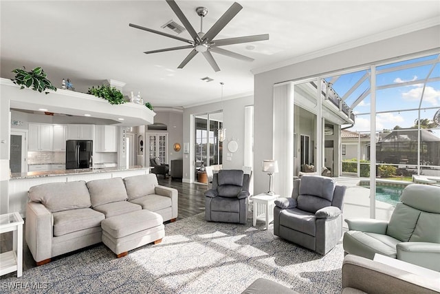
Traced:
POLYGON ((440 271, 440 187, 411 184, 401 193, 389 222, 348 219, 345 253, 375 253, 440 271))

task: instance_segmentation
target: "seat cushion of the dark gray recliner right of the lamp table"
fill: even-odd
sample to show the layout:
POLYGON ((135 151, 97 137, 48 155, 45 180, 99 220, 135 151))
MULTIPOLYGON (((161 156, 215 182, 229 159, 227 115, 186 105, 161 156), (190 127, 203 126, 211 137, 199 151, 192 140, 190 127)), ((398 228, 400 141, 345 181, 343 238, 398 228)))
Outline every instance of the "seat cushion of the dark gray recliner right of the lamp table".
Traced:
POLYGON ((316 216, 300 209, 284 209, 280 213, 280 225, 307 235, 316 235, 316 216))

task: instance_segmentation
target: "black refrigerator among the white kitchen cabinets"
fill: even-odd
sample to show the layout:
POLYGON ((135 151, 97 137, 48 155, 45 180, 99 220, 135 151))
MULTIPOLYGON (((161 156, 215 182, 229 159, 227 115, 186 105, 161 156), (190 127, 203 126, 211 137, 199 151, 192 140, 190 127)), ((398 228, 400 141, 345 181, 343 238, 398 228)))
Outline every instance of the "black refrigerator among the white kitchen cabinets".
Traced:
POLYGON ((66 141, 66 169, 87 169, 92 166, 91 140, 66 141))

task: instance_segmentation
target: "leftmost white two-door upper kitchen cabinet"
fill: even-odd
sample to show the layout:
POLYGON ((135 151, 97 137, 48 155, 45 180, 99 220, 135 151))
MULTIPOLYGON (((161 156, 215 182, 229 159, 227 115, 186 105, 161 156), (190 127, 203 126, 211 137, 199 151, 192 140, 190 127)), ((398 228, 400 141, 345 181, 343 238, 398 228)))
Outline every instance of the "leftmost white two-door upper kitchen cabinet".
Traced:
POLYGON ((29 124, 28 151, 52 151, 54 127, 39 123, 29 124))

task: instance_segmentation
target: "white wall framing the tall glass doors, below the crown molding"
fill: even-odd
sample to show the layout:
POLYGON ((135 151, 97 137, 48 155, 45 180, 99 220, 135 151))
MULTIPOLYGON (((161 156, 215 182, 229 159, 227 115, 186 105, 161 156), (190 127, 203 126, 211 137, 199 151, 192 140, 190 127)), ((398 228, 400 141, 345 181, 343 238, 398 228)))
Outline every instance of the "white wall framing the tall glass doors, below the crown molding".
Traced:
MULTIPOLYGON (((275 83, 298 81, 306 77, 380 63, 426 50, 439 50, 439 36, 440 25, 436 25, 432 28, 256 74, 254 76, 254 165, 257 166, 263 159, 272 156, 272 101, 275 83)), ((254 193, 265 191, 267 175, 263 172, 255 172, 254 176, 254 193)), ((283 173, 274 176, 283 176, 283 173)))

